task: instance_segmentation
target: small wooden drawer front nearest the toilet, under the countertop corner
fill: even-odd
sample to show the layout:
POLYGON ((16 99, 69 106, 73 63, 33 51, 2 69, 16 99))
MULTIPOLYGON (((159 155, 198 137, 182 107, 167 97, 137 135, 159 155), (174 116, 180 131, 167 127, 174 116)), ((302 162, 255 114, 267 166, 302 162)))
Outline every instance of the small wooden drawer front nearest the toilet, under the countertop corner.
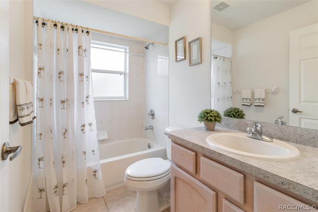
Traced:
POLYGON ((196 153, 171 143, 171 160, 184 170, 196 174, 196 153))

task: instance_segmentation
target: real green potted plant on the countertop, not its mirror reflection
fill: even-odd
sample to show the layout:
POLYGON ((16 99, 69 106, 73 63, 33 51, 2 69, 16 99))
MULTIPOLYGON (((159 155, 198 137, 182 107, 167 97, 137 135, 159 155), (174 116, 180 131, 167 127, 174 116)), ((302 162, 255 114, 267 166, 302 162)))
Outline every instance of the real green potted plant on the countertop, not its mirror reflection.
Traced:
POLYGON ((203 121, 204 128, 209 131, 214 131, 216 122, 221 123, 222 115, 218 110, 215 109, 203 109, 198 115, 198 121, 203 121))

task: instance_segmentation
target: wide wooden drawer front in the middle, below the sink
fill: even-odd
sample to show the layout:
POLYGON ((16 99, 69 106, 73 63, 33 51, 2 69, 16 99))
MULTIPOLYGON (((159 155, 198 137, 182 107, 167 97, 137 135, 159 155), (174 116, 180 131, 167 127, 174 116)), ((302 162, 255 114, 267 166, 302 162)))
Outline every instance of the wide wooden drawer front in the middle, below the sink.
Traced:
POLYGON ((244 175, 201 156, 200 178, 211 186, 244 204, 244 175))

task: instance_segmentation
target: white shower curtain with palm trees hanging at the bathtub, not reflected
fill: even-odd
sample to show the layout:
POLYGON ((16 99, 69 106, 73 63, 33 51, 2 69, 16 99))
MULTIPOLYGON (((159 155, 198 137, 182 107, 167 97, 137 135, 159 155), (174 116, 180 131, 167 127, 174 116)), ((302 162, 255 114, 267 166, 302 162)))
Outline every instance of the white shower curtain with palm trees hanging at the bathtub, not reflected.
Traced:
POLYGON ((90 72, 90 34, 38 19, 35 141, 25 212, 68 212, 105 194, 90 72))

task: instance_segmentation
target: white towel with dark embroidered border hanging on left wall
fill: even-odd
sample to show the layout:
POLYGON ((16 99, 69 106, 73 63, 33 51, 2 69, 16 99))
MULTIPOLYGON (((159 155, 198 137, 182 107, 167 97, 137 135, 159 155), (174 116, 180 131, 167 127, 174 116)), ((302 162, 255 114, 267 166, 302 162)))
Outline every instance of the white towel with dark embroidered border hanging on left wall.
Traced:
MULTIPOLYGON (((21 79, 15 79, 15 81, 15 107, 17 110, 19 124, 21 126, 25 126, 30 123, 33 123, 33 119, 35 118, 32 103, 33 88, 32 84, 28 81, 24 81, 21 79)), ((10 106, 10 109, 11 108, 12 106, 10 106)))

